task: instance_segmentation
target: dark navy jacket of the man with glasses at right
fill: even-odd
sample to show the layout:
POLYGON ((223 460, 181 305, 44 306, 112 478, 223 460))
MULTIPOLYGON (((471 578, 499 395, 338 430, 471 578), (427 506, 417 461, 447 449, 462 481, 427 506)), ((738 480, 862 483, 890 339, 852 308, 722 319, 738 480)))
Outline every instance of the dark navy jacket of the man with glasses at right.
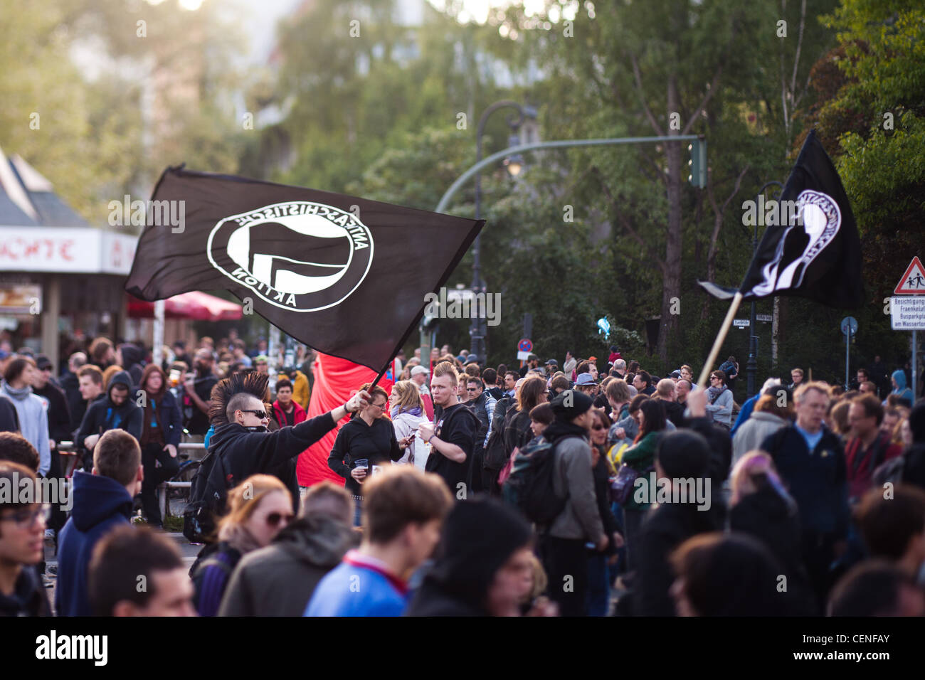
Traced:
POLYGON ((781 427, 761 444, 768 451, 800 512, 806 532, 845 538, 848 532, 848 484, 845 449, 838 435, 822 427, 813 451, 796 426, 781 427))

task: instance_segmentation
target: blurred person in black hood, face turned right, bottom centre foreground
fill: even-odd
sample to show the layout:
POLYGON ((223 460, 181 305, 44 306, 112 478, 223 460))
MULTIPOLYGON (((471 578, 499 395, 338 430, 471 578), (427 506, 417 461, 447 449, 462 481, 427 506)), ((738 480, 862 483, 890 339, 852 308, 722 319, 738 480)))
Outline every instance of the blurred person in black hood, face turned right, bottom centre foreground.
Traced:
POLYGON ((492 498, 456 503, 436 560, 405 616, 519 616, 533 574, 533 530, 492 498))

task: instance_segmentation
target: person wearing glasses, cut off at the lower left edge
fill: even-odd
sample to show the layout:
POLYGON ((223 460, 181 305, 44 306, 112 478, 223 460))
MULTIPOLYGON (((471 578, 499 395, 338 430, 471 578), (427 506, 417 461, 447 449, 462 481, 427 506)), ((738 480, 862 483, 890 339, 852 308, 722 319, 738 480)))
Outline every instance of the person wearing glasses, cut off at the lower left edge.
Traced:
MULTIPOLYGON (((20 488, 26 480, 35 485, 32 468, 0 461, 3 487, 20 488)), ((36 569, 44 555, 45 513, 40 503, 20 500, 25 499, 0 494, 0 616, 50 616, 48 596, 36 569)))

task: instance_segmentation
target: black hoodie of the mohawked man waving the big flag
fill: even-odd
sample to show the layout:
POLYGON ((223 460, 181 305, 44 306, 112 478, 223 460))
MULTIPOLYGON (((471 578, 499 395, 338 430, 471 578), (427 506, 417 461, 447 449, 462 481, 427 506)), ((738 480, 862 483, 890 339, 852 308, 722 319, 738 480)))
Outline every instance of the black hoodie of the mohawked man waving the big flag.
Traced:
POLYGON ((228 471, 228 488, 252 475, 274 475, 289 488, 292 507, 298 511, 296 458, 336 426, 329 413, 276 432, 249 432, 237 423, 226 423, 216 427, 216 433, 209 439, 209 453, 222 457, 228 471))

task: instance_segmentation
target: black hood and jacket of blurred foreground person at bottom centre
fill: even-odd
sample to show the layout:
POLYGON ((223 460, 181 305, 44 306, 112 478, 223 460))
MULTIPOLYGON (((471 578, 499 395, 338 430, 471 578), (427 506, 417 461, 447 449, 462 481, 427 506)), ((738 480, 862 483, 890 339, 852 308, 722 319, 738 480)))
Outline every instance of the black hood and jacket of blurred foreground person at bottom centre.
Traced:
POLYGON ((443 524, 437 560, 405 616, 488 616, 488 588, 501 566, 530 545, 533 530, 499 501, 456 503, 443 524))

